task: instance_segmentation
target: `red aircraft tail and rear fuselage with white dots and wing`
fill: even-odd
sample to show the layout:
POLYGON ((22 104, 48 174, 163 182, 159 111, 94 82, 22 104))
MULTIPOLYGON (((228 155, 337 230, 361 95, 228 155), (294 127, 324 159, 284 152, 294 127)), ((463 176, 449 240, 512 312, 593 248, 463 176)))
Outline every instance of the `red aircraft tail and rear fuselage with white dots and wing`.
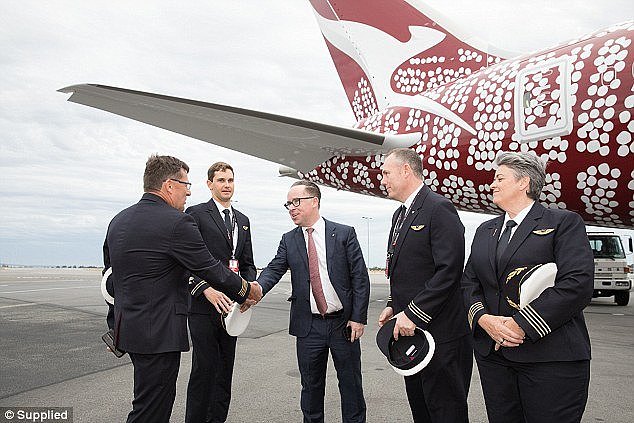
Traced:
POLYGON ((353 128, 106 85, 60 91, 367 195, 386 196, 382 154, 409 147, 431 189, 464 211, 499 213, 489 189, 496 153, 534 151, 550 162, 542 203, 591 225, 634 228, 634 21, 514 56, 464 36, 420 0, 310 5, 353 128))

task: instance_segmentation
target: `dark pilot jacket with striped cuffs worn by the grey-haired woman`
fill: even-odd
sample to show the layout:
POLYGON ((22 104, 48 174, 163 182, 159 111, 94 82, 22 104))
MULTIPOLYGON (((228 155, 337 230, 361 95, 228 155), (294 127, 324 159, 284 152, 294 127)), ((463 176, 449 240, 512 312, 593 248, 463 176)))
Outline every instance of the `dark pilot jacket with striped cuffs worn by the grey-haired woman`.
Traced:
POLYGON ((474 348, 488 355, 494 341, 476 322, 483 314, 513 315, 528 337, 515 348, 502 348, 509 360, 519 362, 590 359, 590 339, 582 310, 594 287, 594 261, 585 225, 578 214, 546 209, 535 203, 515 229, 496 269, 496 248, 504 215, 477 229, 471 256, 462 278, 474 348), (554 262, 555 286, 546 289, 521 311, 506 305, 502 287, 515 268, 554 262), (510 313, 501 313, 513 310, 510 313))

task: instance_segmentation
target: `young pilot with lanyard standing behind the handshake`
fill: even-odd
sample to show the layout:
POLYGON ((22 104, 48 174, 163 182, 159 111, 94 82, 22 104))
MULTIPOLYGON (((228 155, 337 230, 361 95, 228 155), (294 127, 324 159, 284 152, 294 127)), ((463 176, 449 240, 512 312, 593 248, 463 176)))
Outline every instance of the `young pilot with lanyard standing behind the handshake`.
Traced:
MULTIPOLYGON (((224 162, 211 165, 207 171, 211 199, 189 207, 189 213, 200 230, 209 252, 245 280, 255 280, 251 225, 249 219, 231 206, 233 168, 224 162)), ((231 309, 231 299, 214 290, 211 301, 197 295, 200 279, 190 284, 189 332, 192 339, 192 370, 187 385, 188 423, 224 422, 231 401, 231 379, 236 354, 235 336, 222 324, 222 313, 231 309)))

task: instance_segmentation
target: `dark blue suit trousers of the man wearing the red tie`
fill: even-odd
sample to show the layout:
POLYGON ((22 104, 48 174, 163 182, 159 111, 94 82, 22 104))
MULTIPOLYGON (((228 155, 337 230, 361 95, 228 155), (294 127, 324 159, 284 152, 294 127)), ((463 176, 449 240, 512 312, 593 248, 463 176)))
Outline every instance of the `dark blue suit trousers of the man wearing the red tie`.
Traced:
POLYGON ((337 371, 341 417, 344 423, 365 422, 366 406, 361 380, 361 345, 344 338, 343 317, 312 318, 307 336, 297 338, 297 363, 302 380, 301 408, 305 423, 324 421, 324 394, 328 351, 337 371))

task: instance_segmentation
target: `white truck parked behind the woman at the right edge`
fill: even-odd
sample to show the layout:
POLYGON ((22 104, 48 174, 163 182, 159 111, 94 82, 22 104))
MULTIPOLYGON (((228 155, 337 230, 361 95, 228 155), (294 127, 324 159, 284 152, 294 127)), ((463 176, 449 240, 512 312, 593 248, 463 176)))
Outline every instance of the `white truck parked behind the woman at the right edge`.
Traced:
MULTIPOLYGON (((613 232, 589 232, 588 239, 594 254, 593 297, 611 297, 621 306, 630 301, 631 268, 627 265, 626 250, 621 237, 613 232)), ((632 253, 632 238, 628 237, 628 251, 632 253)))

